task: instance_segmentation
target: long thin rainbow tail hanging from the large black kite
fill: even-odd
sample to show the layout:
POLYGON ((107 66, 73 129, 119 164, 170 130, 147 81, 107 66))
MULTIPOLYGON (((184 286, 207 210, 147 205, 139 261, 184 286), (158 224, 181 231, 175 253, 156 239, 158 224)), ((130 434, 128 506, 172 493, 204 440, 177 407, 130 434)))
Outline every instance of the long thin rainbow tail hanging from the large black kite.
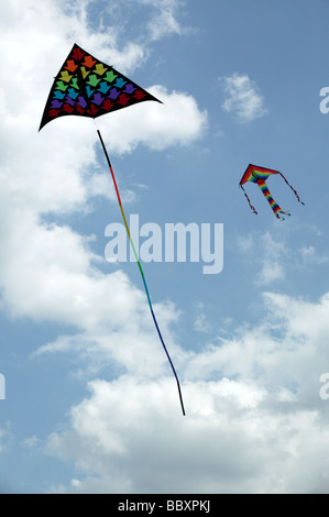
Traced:
POLYGON ((123 207, 122 207, 122 202, 121 202, 121 198, 120 198, 118 185, 117 185, 117 182, 116 182, 116 176, 114 176, 114 173, 113 173, 113 169, 112 169, 112 165, 111 165, 111 161, 110 161, 110 158, 109 158, 109 155, 108 155, 107 148, 106 148, 106 146, 105 146, 102 136, 101 136, 101 134, 100 134, 100 131, 97 130, 97 133, 98 133, 98 136, 99 136, 100 143, 101 143, 102 150, 103 150, 103 152, 105 152, 105 155, 106 155, 106 158, 107 158, 107 162, 108 162, 110 172, 111 172, 111 176, 112 176, 112 180, 113 180, 113 184, 114 184, 114 188, 116 188, 116 193, 117 193, 117 198, 118 198, 118 201, 119 201, 119 206, 120 206, 122 219, 123 219, 123 222, 124 222, 124 227, 125 227, 125 230, 127 230, 127 234, 128 234, 128 237, 129 237, 129 240, 130 240, 131 246, 132 246, 132 249, 133 249, 133 253, 134 253, 135 260, 136 260, 136 262, 138 262, 138 265, 139 265, 139 268, 140 268, 141 275, 142 275, 142 280, 143 280, 144 289, 145 289, 145 293, 146 293, 146 297, 147 297, 147 301, 149 301, 149 307, 150 307, 150 310, 151 310, 151 315, 152 315, 152 318, 153 318, 153 321, 154 321, 154 324, 155 324, 155 328, 156 328, 156 331, 157 331, 160 341, 161 341, 161 343, 162 343, 162 345, 163 345, 163 349, 164 349, 164 351, 165 351, 165 353, 166 353, 166 356, 167 356, 167 359, 168 359, 168 361, 169 361, 169 364, 171 364, 171 366, 172 366, 173 373, 174 373, 175 378, 176 378, 176 382, 177 382, 177 388, 178 388, 178 394, 179 394, 179 402, 180 402, 180 406, 182 406, 182 411, 183 411, 183 415, 185 416, 185 409, 184 409, 184 403, 183 403, 183 397, 182 397, 182 391, 180 391, 179 380, 178 380, 178 376, 177 376, 177 374, 176 374, 176 371, 175 371, 173 361, 172 361, 172 359, 171 359, 171 356, 169 356, 169 353, 168 353, 168 351, 167 351, 167 349, 166 349, 166 345, 165 345, 165 343, 164 343, 163 337, 162 337, 162 334, 161 334, 161 331, 160 331, 160 328, 158 328, 158 324, 157 324, 157 321, 156 321, 156 318, 155 318, 155 315, 154 315, 154 311, 153 311, 153 307, 152 307, 151 297, 150 297, 150 293, 149 293, 149 289, 147 289, 147 285, 146 285, 144 272, 143 272, 143 270, 142 270, 141 262, 140 262, 140 260, 139 260, 139 255, 138 255, 138 253, 136 253, 134 243, 133 243, 133 241, 132 241, 132 239, 131 239, 129 226, 128 226, 128 222, 127 222, 127 219, 125 219, 125 215, 124 215, 124 211, 123 211, 123 207))

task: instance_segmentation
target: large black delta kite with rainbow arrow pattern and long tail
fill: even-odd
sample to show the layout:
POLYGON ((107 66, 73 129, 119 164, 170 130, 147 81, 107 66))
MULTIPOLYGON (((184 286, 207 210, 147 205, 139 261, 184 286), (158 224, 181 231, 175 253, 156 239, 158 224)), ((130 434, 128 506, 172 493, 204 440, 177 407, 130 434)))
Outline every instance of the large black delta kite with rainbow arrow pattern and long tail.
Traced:
MULTIPOLYGON (((39 131, 45 124, 52 122, 52 120, 58 119, 59 117, 75 114, 79 117, 89 117, 91 119, 96 119, 97 117, 101 117, 102 114, 110 113, 112 111, 120 110, 121 108, 127 108, 129 106, 133 106, 138 102, 142 102, 145 100, 154 100, 156 102, 161 102, 146 90, 130 80, 128 77, 117 72, 112 66, 106 65, 99 59, 96 59, 96 57, 91 56, 77 44, 74 44, 65 63, 63 64, 61 70, 55 77, 44 109, 39 131)), ((108 152, 106 150, 100 131, 97 130, 97 133, 103 153, 106 155, 107 163, 110 168, 125 230, 142 275, 151 315, 158 338, 175 375, 182 411, 183 415, 185 415, 178 376, 176 374, 175 367, 162 338, 153 311, 144 272, 142 270, 135 246, 131 239, 129 226, 127 223, 118 185, 116 182, 114 173, 108 152)))

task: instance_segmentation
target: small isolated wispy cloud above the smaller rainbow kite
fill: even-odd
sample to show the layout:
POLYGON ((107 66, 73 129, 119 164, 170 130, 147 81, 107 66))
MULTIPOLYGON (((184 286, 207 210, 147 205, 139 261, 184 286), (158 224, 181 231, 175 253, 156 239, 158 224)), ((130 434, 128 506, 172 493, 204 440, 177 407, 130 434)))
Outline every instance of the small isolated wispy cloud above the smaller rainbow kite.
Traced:
POLYGON ((227 95, 222 109, 239 122, 251 122, 267 113, 259 87, 248 75, 233 74, 220 78, 227 95))

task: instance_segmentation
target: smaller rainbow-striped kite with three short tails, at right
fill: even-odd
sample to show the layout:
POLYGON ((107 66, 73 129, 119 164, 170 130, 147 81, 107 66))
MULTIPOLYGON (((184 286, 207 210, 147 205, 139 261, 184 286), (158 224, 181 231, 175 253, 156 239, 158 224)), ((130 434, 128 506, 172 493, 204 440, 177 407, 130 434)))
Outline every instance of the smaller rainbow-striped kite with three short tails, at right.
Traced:
POLYGON ((260 187, 260 189, 262 190, 262 193, 264 194, 265 198, 267 199, 272 210, 274 211, 275 216, 277 217, 277 219, 281 219, 281 220, 284 220, 285 218, 283 217, 284 216, 289 216, 290 213, 289 212, 284 212, 279 206, 277 205, 277 202, 274 201, 273 197, 271 196, 271 193, 268 190, 268 187, 265 183, 265 179, 268 178, 268 176, 271 176, 272 174, 279 174, 279 176, 283 177, 283 179, 286 182, 286 184, 290 187, 290 189, 294 191, 296 198, 298 199, 299 202, 301 202, 301 205, 304 205, 303 201, 300 201, 299 199, 299 196, 297 194, 297 191, 292 187, 292 185, 288 184, 287 179, 284 177, 284 175, 282 173, 279 173, 278 170, 273 170, 272 168, 264 168, 264 167, 259 167, 257 165, 252 165, 252 164, 249 164, 249 166, 246 167, 245 169, 245 173, 243 174, 242 178, 241 178, 241 182, 240 182, 240 187, 242 188, 243 193, 244 193, 244 196, 246 197, 246 200, 249 202, 249 206, 250 208, 253 210, 254 213, 257 213, 255 208, 251 205, 250 202, 250 199, 243 188, 243 184, 245 184, 246 182, 252 182, 252 183, 256 183, 257 186, 260 187))

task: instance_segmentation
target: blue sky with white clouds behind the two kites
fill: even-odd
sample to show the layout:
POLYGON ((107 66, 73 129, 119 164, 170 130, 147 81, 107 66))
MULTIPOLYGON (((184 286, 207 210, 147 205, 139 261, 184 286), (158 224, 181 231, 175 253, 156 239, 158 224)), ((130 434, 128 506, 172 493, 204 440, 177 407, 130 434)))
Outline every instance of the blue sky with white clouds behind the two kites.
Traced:
POLYGON ((328 10, 1 2, 2 493, 328 493, 328 10), (75 42, 163 101, 97 119, 128 218, 223 223, 219 274, 142 264, 186 417, 136 264, 105 257, 122 221, 94 122, 37 132, 75 42), (248 184, 255 216, 249 163, 305 206, 272 177, 292 216, 248 184))

